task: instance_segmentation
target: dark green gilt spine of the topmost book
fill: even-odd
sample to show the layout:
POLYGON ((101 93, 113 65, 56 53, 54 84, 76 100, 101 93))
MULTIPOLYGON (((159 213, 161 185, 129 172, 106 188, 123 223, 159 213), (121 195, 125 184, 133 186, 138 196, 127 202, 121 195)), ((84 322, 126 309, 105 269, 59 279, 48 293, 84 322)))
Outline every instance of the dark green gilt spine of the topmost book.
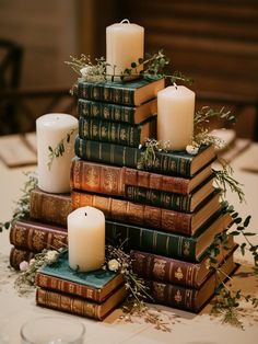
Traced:
POLYGON ((113 88, 106 83, 79 82, 78 98, 129 106, 134 105, 134 90, 113 88))

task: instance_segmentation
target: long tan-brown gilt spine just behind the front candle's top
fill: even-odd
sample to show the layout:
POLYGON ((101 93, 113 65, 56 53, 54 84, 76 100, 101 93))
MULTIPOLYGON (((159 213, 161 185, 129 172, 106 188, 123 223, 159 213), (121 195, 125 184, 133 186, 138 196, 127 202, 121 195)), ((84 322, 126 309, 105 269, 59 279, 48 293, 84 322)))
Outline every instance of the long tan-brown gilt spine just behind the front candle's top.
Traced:
POLYGON ((73 209, 84 206, 92 206, 102 210, 109 220, 191 234, 191 214, 152 207, 125 199, 72 192, 73 209))

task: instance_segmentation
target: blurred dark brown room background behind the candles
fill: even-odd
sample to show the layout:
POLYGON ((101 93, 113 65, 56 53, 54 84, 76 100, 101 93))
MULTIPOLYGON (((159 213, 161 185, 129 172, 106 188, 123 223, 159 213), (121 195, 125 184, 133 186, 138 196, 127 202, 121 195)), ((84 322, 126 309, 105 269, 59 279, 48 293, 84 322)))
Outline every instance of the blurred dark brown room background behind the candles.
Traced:
POLYGON ((231 108, 237 136, 258 140, 257 0, 0 0, 0 135, 75 115, 64 61, 105 56, 106 26, 122 19, 144 27, 146 53, 163 48, 195 80, 197 108, 231 108))

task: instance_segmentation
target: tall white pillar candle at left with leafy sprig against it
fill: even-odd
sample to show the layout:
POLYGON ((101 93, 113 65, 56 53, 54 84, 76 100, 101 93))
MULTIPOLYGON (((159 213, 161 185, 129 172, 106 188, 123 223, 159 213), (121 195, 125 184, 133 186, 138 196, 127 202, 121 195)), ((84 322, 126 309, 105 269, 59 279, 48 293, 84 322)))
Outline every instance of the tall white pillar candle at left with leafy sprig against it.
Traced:
POLYGON ((38 187, 43 191, 70 192, 70 167, 77 131, 78 119, 68 114, 46 114, 36 119, 38 187), (51 159, 50 148, 55 151, 60 142, 63 142, 64 151, 51 159))

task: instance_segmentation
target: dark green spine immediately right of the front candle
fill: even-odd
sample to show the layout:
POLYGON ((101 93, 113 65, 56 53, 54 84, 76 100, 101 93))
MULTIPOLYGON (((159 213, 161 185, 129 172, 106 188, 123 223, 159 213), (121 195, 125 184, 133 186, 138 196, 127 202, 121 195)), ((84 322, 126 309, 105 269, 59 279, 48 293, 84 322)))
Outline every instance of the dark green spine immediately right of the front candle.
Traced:
POLYGON ((196 240, 174 233, 106 220, 106 238, 130 250, 196 262, 196 240))

